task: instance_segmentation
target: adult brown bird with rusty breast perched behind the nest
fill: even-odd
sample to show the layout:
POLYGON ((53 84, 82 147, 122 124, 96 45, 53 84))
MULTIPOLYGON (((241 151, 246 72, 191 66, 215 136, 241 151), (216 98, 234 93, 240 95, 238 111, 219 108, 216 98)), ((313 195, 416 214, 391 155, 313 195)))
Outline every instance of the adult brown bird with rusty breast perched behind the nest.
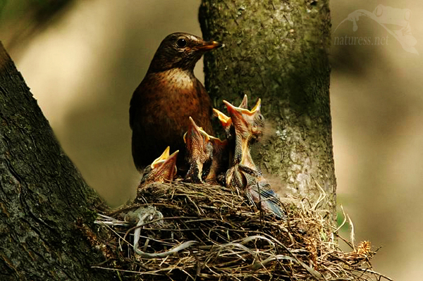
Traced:
POLYGON ((180 32, 161 42, 130 100, 132 154, 138 170, 152 163, 166 146, 178 149, 178 159, 185 159, 183 135, 190 116, 213 134, 212 101, 193 70, 204 52, 219 46, 218 42, 180 32))

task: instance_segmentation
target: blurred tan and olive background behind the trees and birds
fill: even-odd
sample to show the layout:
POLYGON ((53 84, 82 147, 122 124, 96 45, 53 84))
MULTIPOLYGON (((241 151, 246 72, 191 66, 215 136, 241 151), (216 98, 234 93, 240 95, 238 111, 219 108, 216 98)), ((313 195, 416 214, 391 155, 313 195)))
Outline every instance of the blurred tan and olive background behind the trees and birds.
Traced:
MULTIPOLYGON (((357 242, 382 246, 373 261, 376 271, 394 280, 420 280, 423 2, 383 1, 398 9, 386 10, 384 26, 361 16, 354 32, 353 20, 345 20, 379 4, 331 1, 333 43, 345 36, 387 38, 386 44, 357 40, 331 47, 338 203, 353 219, 357 242), (404 33, 415 38, 419 54, 403 49, 393 36, 404 33)), ((177 31, 201 35, 199 5, 199 0, 0 1, 1 41, 63 149, 111 205, 132 198, 139 182, 130 155, 130 96, 161 39, 177 31)), ((202 63, 195 72, 202 80, 202 63)))

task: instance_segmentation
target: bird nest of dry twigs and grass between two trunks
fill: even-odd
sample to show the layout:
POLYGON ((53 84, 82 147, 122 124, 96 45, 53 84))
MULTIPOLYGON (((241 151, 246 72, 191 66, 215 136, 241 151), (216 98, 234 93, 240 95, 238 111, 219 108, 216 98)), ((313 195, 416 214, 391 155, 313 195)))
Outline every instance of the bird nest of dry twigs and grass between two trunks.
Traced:
POLYGON ((96 243, 106 261, 94 268, 130 280, 384 277, 372 270, 369 242, 347 242, 351 251, 342 251, 338 229, 307 200, 285 204, 286 220, 257 211, 243 194, 218 185, 153 183, 137 201, 99 215, 96 243))

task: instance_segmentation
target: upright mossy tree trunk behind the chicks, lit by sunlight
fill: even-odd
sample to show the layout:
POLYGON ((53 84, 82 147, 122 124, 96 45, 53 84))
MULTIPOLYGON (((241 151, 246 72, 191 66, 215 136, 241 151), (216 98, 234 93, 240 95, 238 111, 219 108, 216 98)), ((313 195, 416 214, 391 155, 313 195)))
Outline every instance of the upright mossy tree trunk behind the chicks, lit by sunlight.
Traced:
MULTIPOLYGON (((273 134, 257 149, 264 173, 278 177, 282 192, 316 202, 336 219, 329 108, 330 15, 327 0, 202 0, 205 39, 223 42, 204 58, 206 87, 221 100, 250 106, 262 98, 273 134)), ((224 111, 223 111, 224 112, 224 111)))

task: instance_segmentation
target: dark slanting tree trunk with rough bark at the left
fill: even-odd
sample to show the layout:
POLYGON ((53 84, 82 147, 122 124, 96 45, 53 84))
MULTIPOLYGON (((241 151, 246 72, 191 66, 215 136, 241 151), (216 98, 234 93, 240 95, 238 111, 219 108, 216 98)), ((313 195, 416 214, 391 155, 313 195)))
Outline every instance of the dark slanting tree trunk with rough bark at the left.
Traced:
POLYGON ((111 279, 90 268, 95 204, 0 44, 0 280, 111 279))

